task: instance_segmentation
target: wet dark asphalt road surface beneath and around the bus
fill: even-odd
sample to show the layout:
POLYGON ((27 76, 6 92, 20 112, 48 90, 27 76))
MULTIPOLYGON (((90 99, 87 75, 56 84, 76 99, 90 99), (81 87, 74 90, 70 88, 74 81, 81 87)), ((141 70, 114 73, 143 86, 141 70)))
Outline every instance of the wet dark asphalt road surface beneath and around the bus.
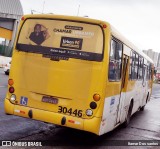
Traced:
MULTIPOLYGON (((50 140, 53 144, 58 144, 58 147, 61 145, 67 148, 75 148, 75 146, 77 148, 78 145, 81 145, 81 147, 106 148, 110 142, 116 145, 114 140, 117 140, 117 143, 119 143, 119 140, 160 140, 160 84, 154 84, 151 101, 144 111, 139 111, 133 115, 127 128, 120 126, 112 132, 97 137, 79 130, 6 115, 3 101, 7 90, 7 80, 8 76, 0 68, 0 140, 50 140)), ((119 146, 118 148, 123 149, 124 147, 119 146)), ((137 146, 130 146, 130 148, 137 148, 137 146)), ((158 147, 138 146, 138 148, 158 147)))

